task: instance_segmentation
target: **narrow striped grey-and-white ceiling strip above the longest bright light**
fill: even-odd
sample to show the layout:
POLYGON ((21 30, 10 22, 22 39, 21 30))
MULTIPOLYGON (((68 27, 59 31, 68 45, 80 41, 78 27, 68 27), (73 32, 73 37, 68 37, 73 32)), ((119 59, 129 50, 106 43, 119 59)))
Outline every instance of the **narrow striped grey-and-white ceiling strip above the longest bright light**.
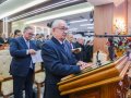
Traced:
POLYGON ((34 11, 21 14, 19 16, 12 17, 12 19, 9 20, 9 22, 15 21, 15 20, 19 20, 19 19, 23 19, 25 16, 33 15, 33 14, 36 14, 36 13, 39 13, 39 12, 44 12, 46 10, 55 9, 57 7, 61 7, 61 5, 66 5, 66 4, 69 4, 69 3, 73 3, 73 2, 76 2, 76 1, 80 1, 80 0, 63 0, 63 1, 59 1, 57 3, 53 3, 53 4, 50 4, 50 5, 47 5, 47 7, 37 9, 37 10, 34 10, 34 11))

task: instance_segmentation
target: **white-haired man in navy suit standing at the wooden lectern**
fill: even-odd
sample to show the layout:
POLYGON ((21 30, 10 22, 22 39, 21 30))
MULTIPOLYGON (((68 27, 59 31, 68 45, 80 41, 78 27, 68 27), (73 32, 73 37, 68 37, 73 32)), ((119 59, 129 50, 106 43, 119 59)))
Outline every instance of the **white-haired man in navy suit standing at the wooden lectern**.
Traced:
POLYGON ((64 42, 67 33, 68 25, 63 20, 53 21, 51 25, 52 38, 47 40, 41 48, 46 70, 44 98, 69 98, 60 96, 57 83, 63 76, 79 73, 86 66, 91 66, 82 61, 72 60, 72 52, 64 42))

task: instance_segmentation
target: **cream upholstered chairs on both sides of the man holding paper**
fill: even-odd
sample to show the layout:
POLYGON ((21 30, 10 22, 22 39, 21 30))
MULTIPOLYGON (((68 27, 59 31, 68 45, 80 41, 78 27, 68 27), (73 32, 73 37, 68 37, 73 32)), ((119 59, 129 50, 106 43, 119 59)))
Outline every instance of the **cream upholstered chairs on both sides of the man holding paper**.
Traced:
MULTIPOLYGON (((13 94, 13 79, 9 73, 12 57, 9 50, 0 50, 0 96, 9 98, 13 94)), ((37 87, 37 98, 40 98, 40 87, 44 86, 45 71, 41 63, 36 63, 34 85, 37 87)))

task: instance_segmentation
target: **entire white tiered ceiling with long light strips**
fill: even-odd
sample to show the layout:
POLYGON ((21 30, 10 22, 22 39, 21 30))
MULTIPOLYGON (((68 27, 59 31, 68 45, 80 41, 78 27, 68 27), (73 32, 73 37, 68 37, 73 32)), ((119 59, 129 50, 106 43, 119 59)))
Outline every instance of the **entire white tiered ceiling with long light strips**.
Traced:
MULTIPOLYGON (((44 3, 49 2, 48 4, 51 4, 52 2, 57 2, 57 1, 60 2, 60 1, 66 1, 66 0, 7 0, 0 4, 0 13, 2 14, 2 15, 0 15, 0 19, 2 19, 4 16, 8 16, 8 19, 12 19, 12 17, 15 17, 19 15, 23 15, 27 12, 32 12, 32 10, 36 9, 36 7, 35 7, 36 4, 32 5, 31 9, 25 8, 19 12, 10 12, 10 11, 14 11, 14 10, 27 4, 27 3, 39 2, 39 1, 41 1, 44 3)), ((82 11, 82 10, 87 9, 87 8, 93 8, 93 5, 111 3, 115 0, 67 0, 67 2, 68 1, 79 1, 79 3, 66 4, 62 8, 51 9, 51 10, 48 10, 47 12, 41 12, 41 13, 36 13, 33 15, 29 15, 29 17, 25 16, 26 19, 22 17, 21 21, 23 21, 24 23, 28 22, 27 24, 32 24, 32 25, 45 26, 45 25, 47 25, 47 23, 51 22, 55 19, 63 19, 68 22, 70 29, 73 29, 73 32, 75 32, 75 33, 81 33, 81 34, 82 33, 85 34, 85 32, 86 33, 94 33, 94 25, 93 25, 94 22, 92 19, 93 17, 93 9, 87 10, 87 11, 82 11), (76 10, 80 12, 72 14, 76 10), (61 13, 71 12, 71 11, 72 11, 72 13, 70 13, 70 15, 57 16, 57 15, 60 15, 61 13), (51 16, 51 19, 49 19, 50 16, 51 16), (52 16, 56 16, 56 17, 52 19, 52 16), (46 17, 48 17, 48 19, 46 19, 46 17), (36 21, 38 19, 39 20, 43 19, 43 20, 36 21), (70 23, 72 21, 83 21, 83 20, 85 20, 85 21, 78 22, 78 23, 70 23), (88 24, 91 24, 91 25, 88 25, 88 24), (81 26, 81 25, 85 25, 85 26, 81 26)), ((39 2, 39 3, 41 3, 41 2, 39 2)), ((37 3, 37 4, 39 4, 39 3, 37 3)), ((41 7, 46 7, 46 5, 41 4, 41 7)))

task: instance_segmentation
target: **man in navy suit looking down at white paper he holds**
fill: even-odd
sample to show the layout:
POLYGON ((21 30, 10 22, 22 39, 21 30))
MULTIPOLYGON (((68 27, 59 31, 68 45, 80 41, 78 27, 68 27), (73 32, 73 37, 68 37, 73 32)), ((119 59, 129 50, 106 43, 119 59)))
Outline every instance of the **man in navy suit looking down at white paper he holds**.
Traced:
POLYGON ((31 40, 34 29, 31 26, 24 28, 22 37, 12 39, 10 53, 12 56, 10 73, 13 76, 14 98, 23 98, 23 88, 25 98, 33 98, 33 74, 34 63, 32 54, 36 53, 36 46, 31 40))

